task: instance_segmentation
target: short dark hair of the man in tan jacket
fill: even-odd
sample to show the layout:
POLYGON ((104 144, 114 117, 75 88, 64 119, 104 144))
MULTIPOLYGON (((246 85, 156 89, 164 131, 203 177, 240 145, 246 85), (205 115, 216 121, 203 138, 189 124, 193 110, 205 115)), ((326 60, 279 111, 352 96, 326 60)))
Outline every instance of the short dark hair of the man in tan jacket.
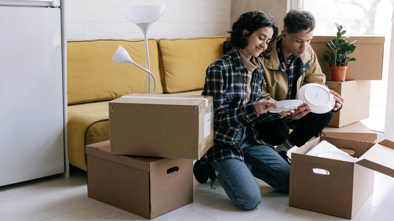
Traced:
MULTIPOLYGON (((287 33, 297 33, 301 30, 313 31, 316 26, 316 20, 309 11, 290 10, 283 18, 283 29, 287 33)), ((308 33, 309 33, 308 32, 308 33)))

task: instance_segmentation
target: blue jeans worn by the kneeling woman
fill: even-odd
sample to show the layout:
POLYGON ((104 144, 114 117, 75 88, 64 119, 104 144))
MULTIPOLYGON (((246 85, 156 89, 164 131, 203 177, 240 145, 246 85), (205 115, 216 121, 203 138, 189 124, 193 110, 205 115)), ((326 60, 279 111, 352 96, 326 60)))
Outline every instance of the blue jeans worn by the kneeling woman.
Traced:
POLYGON ((219 173, 217 181, 227 196, 243 209, 251 210, 261 202, 260 187, 255 179, 263 180, 282 192, 289 191, 290 165, 273 149, 256 142, 252 125, 240 127, 236 134, 245 162, 237 159, 210 162, 219 173))

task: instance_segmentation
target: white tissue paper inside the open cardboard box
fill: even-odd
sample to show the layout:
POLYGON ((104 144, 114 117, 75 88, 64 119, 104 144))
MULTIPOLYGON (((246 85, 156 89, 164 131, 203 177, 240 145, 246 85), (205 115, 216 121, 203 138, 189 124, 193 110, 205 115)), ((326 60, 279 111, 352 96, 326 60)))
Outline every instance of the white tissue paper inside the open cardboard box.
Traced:
MULTIPOLYGON (((350 156, 348 153, 338 149, 334 145, 330 144, 326 140, 323 140, 318 145, 313 147, 306 155, 315 156, 315 157, 323 157, 334 160, 342 160, 348 162, 356 162, 357 158, 350 156)), ((323 175, 329 175, 329 171, 325 169, 313 169, 314 173, 319 173, 323 175)))

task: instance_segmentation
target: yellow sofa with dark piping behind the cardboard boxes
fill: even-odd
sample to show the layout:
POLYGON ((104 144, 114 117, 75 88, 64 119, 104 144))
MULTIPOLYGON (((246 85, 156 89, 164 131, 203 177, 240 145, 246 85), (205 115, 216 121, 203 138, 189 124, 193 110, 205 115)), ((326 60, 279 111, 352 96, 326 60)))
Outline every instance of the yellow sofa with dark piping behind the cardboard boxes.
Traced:
MULTIPOLYGON (((227 37, 149 39, 156 94, 201 95, 206 68, 223 55, 227 37)), ((129 93, 145 93, 144 72, 132 64, 111 61, 119 45, 136 63, 146 66, 143 39, 67 41, 68 155, 70 164, 84 170, 85 145, 109 140, 108 102, 129 93)))

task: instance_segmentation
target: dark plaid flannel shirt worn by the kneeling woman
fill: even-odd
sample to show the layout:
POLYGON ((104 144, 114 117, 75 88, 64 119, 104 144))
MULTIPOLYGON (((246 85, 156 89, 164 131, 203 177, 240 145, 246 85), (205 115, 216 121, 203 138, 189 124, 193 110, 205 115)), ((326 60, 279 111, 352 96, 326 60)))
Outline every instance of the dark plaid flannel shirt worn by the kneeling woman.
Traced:
MULTIPOLYGON (((214 97, 214 144, 203 156, 203 162, 217 162, 226 159, 244 160, 238 141, 235 140, 240 125, 256 121, 271 121, 282 118, 279 114, 267 112, 257 115, 253 104, 261 99, 263 87, 263 69, 258 67, 252 72, 251 95, 249 103, 245 103, 247 94, 248 70, 242 63, 237 48, 223 55, 206 69, 205 84, 202 95, 214 97)), ((256 142, 271 146, 257 137, 256 142)), ((272 147, 273 148, 273 147, 272 147)))

